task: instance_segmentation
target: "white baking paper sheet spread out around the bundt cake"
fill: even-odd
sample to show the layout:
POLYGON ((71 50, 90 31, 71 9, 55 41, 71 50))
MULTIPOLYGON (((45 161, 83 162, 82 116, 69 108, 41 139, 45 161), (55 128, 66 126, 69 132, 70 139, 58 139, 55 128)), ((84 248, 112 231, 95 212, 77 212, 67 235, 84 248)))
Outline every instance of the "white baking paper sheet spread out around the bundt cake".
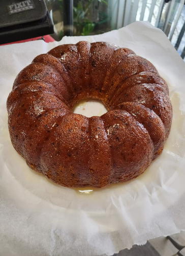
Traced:
POLYGON ((0 58, 0 255, 112 255, 185 229, 185 63, 161 30, 137 21, 102 35, 0 46, 0 58), (146 172, 86 192, 60 187, 26 166, 11 144, 6 110, 23 67, 59 44, 80 40, 112 42, 151 61, 167 81, 173 105, 170 136, 146 172))

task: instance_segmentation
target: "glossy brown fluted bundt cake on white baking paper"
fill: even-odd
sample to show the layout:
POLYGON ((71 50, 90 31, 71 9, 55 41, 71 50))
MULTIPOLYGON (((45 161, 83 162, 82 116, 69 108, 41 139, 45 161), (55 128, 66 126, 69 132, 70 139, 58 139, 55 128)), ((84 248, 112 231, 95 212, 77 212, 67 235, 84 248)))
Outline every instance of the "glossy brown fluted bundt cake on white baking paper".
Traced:
POLYGON ((142 174, 172 121, 166 82, 132 50, 107 42, 64 44, 37 56, 7 100, 12 144, 27 165, 66 187, 102 188, 142 174), (108 112, 71 111, 100 99, 108 112))

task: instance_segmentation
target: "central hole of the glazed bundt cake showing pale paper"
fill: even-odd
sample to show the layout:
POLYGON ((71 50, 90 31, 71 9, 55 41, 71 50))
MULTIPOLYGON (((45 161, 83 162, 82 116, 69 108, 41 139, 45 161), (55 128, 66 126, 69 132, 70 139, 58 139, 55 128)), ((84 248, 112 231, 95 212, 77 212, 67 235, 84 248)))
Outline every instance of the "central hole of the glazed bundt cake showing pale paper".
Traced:
POLYGON ((95 115, 100 117, 107 112, 107 109, 101 100, 84 99, 76 103, 72 109, 73 113, 83 114, 90 118, 95 115))

